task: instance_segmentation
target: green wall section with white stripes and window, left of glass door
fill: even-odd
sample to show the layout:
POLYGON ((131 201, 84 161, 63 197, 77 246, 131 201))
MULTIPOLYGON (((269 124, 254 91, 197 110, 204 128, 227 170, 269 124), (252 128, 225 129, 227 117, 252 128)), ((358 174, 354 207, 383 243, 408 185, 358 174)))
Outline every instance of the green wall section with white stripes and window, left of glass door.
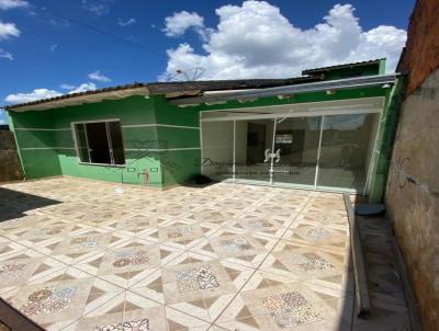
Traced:
POLYGON ((189 180, 199 172, 193 166, 193 158, 200 158, 198 112, 182 113, 173 106, 164 107, 165 102, 162 96, 131 96, 49 111, 10 112, 25 178, 71 175, 144 184, 145 173, 148 173, 148 185, 156 187, 189 180), (76 156, 71 123, 114 118, 121 121, 125 167, 80 163, 76 156), (156 126, 157 123, 189 128, 156 126), (196 149, 162 151, 176 148, 196 149))

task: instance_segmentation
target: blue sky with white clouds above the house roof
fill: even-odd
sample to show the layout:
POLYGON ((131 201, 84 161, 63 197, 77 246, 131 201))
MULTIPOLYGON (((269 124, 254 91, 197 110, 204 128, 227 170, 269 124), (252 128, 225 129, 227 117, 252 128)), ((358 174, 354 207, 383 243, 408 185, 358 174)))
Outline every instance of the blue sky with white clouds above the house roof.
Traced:
POLYGON ((134 81, 295 77, 381 57, 392 72, 413 7, 414 0, 0 0, 0 105, 134 81))

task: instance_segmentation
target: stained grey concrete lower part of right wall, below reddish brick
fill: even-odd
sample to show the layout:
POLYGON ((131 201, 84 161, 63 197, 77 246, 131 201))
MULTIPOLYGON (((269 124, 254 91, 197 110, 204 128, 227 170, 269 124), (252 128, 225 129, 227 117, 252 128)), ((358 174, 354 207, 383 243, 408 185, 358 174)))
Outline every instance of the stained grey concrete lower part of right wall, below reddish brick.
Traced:
POLYGON ((426 329, 439 330, 439 70, 404 102, 385 201, 426 329))

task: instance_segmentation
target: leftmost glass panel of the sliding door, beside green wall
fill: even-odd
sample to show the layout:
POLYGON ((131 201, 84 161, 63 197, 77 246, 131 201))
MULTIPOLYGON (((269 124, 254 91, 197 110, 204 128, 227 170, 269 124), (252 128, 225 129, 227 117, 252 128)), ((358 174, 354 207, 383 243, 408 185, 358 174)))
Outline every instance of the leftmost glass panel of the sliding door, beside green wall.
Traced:
POLYGON ((233 178, 234 123, 203 122, 203 174, 216 181, 233 178))

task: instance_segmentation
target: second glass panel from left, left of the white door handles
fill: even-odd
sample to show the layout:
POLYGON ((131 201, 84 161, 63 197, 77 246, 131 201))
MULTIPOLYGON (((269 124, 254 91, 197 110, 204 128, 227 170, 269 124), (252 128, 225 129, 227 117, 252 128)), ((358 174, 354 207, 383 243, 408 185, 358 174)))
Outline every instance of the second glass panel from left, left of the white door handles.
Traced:
POLYGON ((274 119, 236 121, 236 180, 270 182, 274 119))

